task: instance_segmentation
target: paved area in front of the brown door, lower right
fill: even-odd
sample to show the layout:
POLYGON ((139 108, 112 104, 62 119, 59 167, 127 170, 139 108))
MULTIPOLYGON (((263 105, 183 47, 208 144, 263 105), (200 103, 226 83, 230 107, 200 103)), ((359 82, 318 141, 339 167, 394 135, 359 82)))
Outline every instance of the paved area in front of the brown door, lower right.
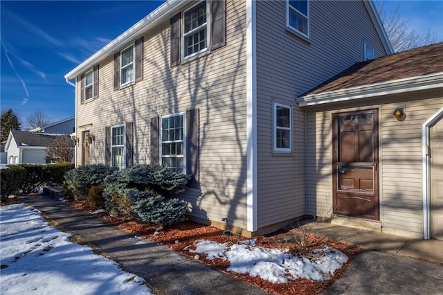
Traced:
POLYGON ((328 222, 302 227, 307 226, 315 235, 365 249, 323 294, 443 294, 443 241, 402 238, 328 222))

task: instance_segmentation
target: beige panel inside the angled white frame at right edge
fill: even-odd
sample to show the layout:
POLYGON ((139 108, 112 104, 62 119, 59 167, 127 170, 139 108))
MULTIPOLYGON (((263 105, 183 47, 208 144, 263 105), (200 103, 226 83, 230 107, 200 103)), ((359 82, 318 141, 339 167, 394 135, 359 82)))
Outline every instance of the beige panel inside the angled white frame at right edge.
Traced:
POLYGON ((431 238, 443 240, 443 119, 431 128, 431 238))

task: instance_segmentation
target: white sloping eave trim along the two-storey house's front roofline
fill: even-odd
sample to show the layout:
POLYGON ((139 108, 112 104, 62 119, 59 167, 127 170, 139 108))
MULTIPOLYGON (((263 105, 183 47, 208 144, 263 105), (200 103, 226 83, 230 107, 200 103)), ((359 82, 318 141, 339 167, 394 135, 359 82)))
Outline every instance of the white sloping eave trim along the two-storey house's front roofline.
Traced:
POLYGON ((174 13, 179 12, 181 8, 188 5, 190 1, 181 0, 168 0, 163 3, 159 8, 156 8, 149 15, 138 21, 134 26, 127 29, 123 34, 116 37, 105 47, 91 55, 87 60, 76 66, 72 71, 64 75, 66 81, 71 80, 93 65, 98 64, 100 61, 105 60, 111 53, 120 50, 120 48, 126 43, 134 41, 134 39, 141 37, 148 30, 154 28, 165 19, 172 17, 174 13))

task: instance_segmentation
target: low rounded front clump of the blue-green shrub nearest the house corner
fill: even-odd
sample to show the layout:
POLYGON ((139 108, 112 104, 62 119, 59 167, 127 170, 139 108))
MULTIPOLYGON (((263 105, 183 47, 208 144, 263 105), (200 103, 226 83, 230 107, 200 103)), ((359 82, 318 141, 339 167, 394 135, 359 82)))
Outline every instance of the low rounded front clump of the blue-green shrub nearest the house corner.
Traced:
POLYGON ((170 225, 183 219, 188 203, 181 199, 165 199, 161 195, 151 192, 139 192, 138 199, 132 208, 134 213, 143 222, 152 224, 170 225))

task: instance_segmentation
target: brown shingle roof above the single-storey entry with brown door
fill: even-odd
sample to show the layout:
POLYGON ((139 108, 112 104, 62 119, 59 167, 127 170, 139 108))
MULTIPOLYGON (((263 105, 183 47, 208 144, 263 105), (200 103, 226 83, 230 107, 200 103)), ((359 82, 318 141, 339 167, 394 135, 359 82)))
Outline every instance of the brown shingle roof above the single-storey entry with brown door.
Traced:
POLYGON ((302 96, 443 72, 443 42, 357 62, 302 96))

